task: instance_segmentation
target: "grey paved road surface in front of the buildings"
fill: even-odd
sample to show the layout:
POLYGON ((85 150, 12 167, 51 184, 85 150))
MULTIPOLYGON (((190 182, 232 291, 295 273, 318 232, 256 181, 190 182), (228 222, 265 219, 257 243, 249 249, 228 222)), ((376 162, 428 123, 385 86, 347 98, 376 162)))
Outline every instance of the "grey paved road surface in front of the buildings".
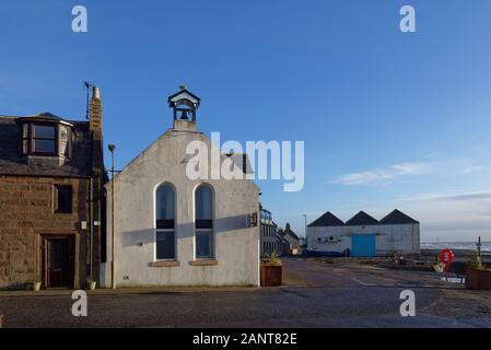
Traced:
POLYGON ((0 292, 3 327, 491 327, 491 293, 433 272, 387 270, 356 260, 284 258, 279 288, 98 290, 87 317, 71 314, 71 291, 0 292), (416 295, 402 317, 400 293, 416 295))

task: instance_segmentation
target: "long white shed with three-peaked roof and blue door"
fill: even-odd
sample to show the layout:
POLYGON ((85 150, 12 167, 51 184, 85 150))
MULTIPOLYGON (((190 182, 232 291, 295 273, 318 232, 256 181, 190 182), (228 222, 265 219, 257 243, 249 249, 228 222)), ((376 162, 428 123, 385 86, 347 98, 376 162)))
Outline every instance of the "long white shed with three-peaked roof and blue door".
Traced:
POLYGON ((307 228, 309 255, 369 257, 419 252, 420 223, 397 209, 379 221, 360 211, 346 223, 328 211, 307 228))

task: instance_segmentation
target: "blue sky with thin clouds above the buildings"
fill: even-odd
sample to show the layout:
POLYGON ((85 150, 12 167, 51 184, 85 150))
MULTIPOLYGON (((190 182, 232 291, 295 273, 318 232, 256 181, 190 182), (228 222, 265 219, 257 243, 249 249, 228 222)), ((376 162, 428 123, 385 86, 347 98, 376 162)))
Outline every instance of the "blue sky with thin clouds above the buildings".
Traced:
POLYGON ((3 0, 0 14, 0 114, 83 118, 93 81, 121 167, 186 84, 208 135, 305 141, 302 191, 258 182, 280 225, 399 208, 423 241, 491 240, 488 0, 3 0), (404 4, 417 33, 399 31, 404 4))

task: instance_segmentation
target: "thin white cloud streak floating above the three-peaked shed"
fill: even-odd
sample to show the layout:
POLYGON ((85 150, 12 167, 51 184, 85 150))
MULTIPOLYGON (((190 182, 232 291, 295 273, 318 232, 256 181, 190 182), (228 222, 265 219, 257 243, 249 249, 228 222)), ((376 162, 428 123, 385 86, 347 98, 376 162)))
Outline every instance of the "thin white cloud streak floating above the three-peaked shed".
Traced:
POLYGON ((385 168, 360 173, 349 173, 335 179, 335 184, 347 186, 394 182, 404 176, 428 174, 432 171, 429 163, 399 163, 385 168))

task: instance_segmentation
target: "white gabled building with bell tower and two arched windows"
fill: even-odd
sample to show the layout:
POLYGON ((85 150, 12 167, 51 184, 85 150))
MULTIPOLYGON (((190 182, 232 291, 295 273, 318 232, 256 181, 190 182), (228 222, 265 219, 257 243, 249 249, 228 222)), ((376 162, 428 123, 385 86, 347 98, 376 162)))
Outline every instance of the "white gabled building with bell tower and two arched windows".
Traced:
POLYGON ((200 98, 182 86, 168 103, 173 127, 106 185, 114 266, 106 265, 105 285, 259 285, 259 188, 211 175, 226 160, 244 174, 246 162, 237 165, 197 130, 200 98), (199 158, 187 152, 192 145, 199 158))

